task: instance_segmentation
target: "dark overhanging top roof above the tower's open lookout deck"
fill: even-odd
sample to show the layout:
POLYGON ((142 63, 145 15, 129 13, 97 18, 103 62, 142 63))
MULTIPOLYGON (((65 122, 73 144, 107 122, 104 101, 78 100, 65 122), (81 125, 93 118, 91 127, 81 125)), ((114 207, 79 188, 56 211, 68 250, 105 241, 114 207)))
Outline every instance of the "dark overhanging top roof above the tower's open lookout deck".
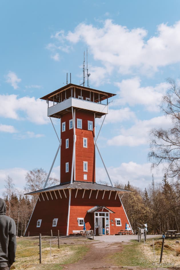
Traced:
POLYGON ((44 99, 44 100, 49 99, 49 101, 58 102, 58 97, 56 98, 55 95, 58 95, 59 93, 65 91, 65 90, 71 89, 72 87, 74 87, 76 89, 82 89, 82 90, 86 90, 86 91, 89 91, 89 92, 94 92, 94 93, 97 93, 97 94, 101 94, 101 100, 104 100, 104 99, 107 99, 107 98, 110 98, 110 97, 113 97, 113 96, 116 95, 116 94, 113 94, 113 93, 108 93, 108 92, 104 92, 104 91, 101 91, 101 90, 97 90, 97 89, 93 89, 93 88, 89 88, 89 87, 69 83, 69 84, 67 84, 67 85, 65 85, 65 86, 63 86, 63 87, 61 87, 61 88, 59 88, 59 89, 45 95, 44 97, 41 97, 40 99, 44 99))

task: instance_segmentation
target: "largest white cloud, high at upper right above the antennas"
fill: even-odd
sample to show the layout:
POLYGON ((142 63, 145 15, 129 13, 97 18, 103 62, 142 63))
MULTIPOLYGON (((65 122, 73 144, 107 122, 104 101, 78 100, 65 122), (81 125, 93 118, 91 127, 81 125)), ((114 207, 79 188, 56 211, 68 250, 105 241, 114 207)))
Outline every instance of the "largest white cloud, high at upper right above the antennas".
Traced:
POLYGON ((147 39, 145 29, 128 29, 107 19, 102 27, 80 23, 67 35, 59 31, 51 38, 63 44, 84 42, 95 60, 101 61, 105 67, 116 68, 120 73, 133 70, 150 75, 159 67, 180 62, 179 31, 180 21, 171 26, 162 23, 156 34, 147 39))

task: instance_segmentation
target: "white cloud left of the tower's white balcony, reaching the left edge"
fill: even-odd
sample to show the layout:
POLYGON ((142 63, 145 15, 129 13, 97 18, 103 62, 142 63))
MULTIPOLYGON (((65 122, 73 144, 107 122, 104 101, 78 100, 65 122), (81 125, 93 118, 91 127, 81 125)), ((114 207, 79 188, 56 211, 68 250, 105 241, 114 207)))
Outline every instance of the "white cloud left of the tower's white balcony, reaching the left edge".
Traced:
POLYGON ((0 116, 16 120, 27 119, 36 124, 47 124, 47 104, 45 101, 34 97, 22 97, 17 95, 0 95, 0 116), (21 112, 21 115, 20 115, 21 112), (22 112, 24 116, 22 116, 22 112))

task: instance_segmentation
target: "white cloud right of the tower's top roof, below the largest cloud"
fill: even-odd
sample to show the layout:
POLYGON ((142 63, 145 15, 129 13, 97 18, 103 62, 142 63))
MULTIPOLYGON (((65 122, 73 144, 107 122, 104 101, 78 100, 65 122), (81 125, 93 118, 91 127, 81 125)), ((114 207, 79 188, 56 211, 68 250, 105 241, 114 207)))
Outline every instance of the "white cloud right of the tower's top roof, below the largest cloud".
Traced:
POLYGON ((144 105, 148 111, 159 111, 159 104, 165 95, 169 84, 160 83, 155 87, 141 87, 141 80, 138 77, 122 80, 116 83, 119 87, 119 99, 115 100, 115 105, 144 105))

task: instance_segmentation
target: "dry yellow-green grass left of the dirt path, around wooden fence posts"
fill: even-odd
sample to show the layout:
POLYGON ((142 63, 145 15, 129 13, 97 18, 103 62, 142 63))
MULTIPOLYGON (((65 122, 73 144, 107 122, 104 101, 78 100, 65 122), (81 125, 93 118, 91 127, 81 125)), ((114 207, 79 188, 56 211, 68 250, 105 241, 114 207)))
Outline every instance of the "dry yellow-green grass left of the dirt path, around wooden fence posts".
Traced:
POLYGON ((89 250, 86 243, 60 244, 58 249, 57 239, 51 240, 50 257, 50 237, 42 237, 42 263, 39 264, 39 238, 27 237, 17 239, 15 269, 27 270, 60 270, 63 265, 75 263, 82 259, 89 250))

